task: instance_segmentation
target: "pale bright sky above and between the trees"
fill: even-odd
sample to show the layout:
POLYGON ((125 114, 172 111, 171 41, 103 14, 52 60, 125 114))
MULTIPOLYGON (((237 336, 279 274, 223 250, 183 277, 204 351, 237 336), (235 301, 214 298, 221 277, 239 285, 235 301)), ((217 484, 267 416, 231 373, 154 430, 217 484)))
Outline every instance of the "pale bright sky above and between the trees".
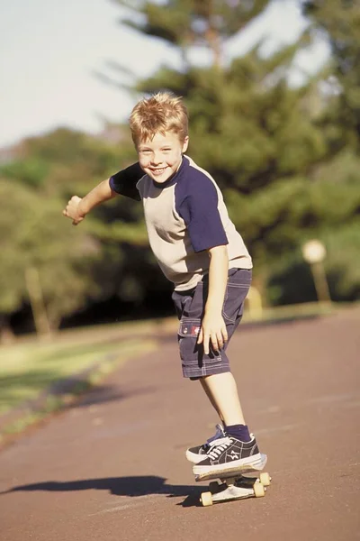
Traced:
MULTIPOLYGON (((1 148, 58 126, 100 133, 105 121, 125 121, 136 97, 96 76, 115 74, 110 61, 138 78, 162 64, 180 66, 174 48, 121 25, 124 14, 112 0, 0 0, 1 148)), ((275 0, 229 41, 226 59, 243 54, 260 37, 266 39, 264 50, 275 50, 296 40, 305 26, 296 0, 275 0)), ((319 40, 298 55, 291 82, 314 73, 328 58, 329 48, 319 40)), ((192 60, 204 64, 208 55, 195 50, 192 60)))

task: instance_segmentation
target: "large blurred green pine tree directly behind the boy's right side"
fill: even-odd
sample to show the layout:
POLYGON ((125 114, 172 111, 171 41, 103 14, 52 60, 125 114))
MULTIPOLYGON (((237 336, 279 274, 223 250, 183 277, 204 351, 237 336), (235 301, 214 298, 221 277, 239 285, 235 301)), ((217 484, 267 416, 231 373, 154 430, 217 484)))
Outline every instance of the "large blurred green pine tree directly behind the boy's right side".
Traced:
POLYGON ((324 92, 320 76, 297 88, 287 82, 294 55, 309 45, 308 32, 266 58, 257 46, 225 62, 226 41, 268 2, 119 3, 134 12, 123 23, 182 51, 182 69, 163 66, 135 88, 141 94, 170 89, 184 96, 191 117, 190 154, 223 189, 254 256, 257 279, 270 278, 278 262, 290 261, 309 236, 352 223, 358 190, 339 168, 336 184, 320 174, 327 163, 332 167, 334 151, 346 146, 339 117, 332 113, 338 95, 324 92), (199 45, 211 51, 210 67, 192 64, 189 52, 199 45))

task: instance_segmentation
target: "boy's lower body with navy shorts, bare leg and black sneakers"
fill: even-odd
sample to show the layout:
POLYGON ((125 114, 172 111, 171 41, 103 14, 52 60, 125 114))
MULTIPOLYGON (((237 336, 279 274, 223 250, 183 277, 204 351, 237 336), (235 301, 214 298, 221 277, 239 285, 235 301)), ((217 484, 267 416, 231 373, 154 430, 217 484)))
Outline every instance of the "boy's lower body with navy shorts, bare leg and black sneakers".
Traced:
MULTIPOLYGON (((242 269, 229 271, 228 287, 222 311, 229 339, 240 322, 250 283, 251 271, 242 269)), ((253 459, 259 460, 256 440, 254 436, 249 435, 247 426, 244 424, 237 385, 229 371, 229 359, 226 355, 229 339, 220 352, 210 352, 209 354, 204 354, 202 348, 197 344, 206 298, 206 277, 193 290, 181 293, 175 291, 173 294, 176 312, 181 320, 178 339, 184 377, 201 381, 202 388, 210 399, 211 405, 218 412, 224 425, 226 424, 224 426, 225 432, 222 427, 217 426, 217 434, 210 438, 206 444, 186 451, 188 460, 198 463, 200 471, 203 471, 203 467, 206 470, 209 466, 211 470, 213 467, 222 467, 223 454, 226 454, 227 449, 229 449, 231 462, 236 456, 241 463, 244 461, 252 462, 253 459), (221 453, 220 457, 219 452, 221 453), (208 459, 211 461, 209 464, 203 462, 203 454, 207 456, 209 454, 208 459)), ((237 464, 234 463, 234 465, 237 464)))

